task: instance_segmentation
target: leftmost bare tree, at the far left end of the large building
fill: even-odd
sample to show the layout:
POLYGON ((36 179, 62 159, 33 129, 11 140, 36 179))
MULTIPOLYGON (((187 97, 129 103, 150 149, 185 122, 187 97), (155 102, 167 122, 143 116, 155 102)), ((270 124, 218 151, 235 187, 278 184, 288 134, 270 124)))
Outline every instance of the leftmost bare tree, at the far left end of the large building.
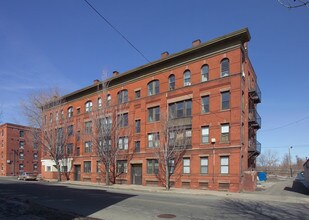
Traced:
MULTIPOLYGON (((23 112, 33 127, 33 142, 41 147, 43 154, 50 158, 57 169, 57 179, 61 181, 61 167, 66 167, 70 152, 67 144, 73 134, 73 126, 68 126, 70 116, 64 115, 64 100, 59 98, 59 91, 40 92, 29 95, 22 102, 23 112), (38 133, 37 130, 41 133, 38 133)), ((67 172, 67 169, 63 170, 67 172)))

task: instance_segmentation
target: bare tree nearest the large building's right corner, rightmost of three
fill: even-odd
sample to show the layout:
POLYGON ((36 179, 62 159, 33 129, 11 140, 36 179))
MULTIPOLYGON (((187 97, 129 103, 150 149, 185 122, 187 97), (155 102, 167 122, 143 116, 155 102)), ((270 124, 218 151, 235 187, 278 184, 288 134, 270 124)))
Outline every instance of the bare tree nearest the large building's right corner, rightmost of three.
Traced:
MULTIPOLYGON (((164 109, 161 109, 164 112, 164 109)), ((157 178, 165 186, 166 190, 171 187, 171 177, 177 178, 181 173, 175 172, 182 163, 186 150, 191 147, 191 129, 184 126, 181 121, 160 115, 160 139, 159 146, 155 146, 155 157, 158 159, 159 170, 157 178)), ((158 143, 154 140, 154 143, 158 143)))

